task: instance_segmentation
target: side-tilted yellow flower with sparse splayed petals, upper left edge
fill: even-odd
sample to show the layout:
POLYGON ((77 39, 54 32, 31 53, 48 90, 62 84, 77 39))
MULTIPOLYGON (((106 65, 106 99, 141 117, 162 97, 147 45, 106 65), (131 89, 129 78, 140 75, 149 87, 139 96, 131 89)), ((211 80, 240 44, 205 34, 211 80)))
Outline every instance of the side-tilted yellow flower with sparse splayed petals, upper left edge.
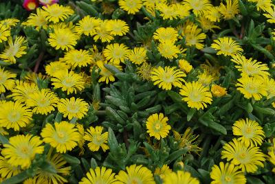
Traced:
POLYGON ((27 49, 25 42, 23 36, 16 37, 14 42, 12 41, 12 37, 9 37, 8 47, 0 54, 0 59, 4 62, 16 63, 16 58, 21 58, 21 56, 27 54, 25 51, 27 49))

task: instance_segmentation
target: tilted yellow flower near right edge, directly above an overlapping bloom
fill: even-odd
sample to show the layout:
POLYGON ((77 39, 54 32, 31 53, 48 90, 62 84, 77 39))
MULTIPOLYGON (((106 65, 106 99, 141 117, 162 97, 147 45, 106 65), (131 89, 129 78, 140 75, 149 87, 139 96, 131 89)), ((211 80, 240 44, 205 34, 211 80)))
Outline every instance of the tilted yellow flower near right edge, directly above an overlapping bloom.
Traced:
POLYGON ((241 55, 232 56, 231 60, 237 64, 235 67, 238 71, 241 71, 241 76, 270 76, 270 73, 268 73, 269 68, 262 62, 252 60, 252 58, 247 59, 241 55))

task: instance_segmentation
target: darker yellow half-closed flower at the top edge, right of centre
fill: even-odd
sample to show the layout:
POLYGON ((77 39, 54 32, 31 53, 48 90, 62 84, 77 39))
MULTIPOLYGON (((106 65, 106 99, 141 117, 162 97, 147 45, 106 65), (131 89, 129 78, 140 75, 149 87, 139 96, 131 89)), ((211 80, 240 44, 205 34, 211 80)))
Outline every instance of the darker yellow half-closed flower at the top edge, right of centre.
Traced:
POLYGON ((236 14, 240 12, 238 0, 226 0, 226 5, 221 3, 219 5, 219 12, 223 16, 223 19, 233 19, 236 14))

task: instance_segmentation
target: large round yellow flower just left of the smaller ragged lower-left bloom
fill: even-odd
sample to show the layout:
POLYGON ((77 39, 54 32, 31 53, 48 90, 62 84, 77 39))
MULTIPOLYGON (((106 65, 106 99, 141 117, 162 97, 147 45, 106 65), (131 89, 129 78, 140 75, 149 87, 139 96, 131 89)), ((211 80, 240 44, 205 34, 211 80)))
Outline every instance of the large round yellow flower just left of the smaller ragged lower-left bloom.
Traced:
POLYGON ((80 134, 74 124, 55 122, 54 126, 46 124, 41 131, 41 137, 45 143, 50 143, 53 148, 56 148, 56 152, 65 153, 77 146, 80 134))

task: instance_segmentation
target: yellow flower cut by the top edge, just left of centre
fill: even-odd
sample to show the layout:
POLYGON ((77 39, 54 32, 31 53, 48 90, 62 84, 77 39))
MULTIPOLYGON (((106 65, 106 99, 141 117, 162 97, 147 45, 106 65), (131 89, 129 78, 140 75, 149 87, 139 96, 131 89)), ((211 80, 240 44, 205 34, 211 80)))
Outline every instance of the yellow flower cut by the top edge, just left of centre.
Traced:
POLYGON ((118 5, 128 14, 136 14, 142 8, 142 0, 119 0, 118 5))

